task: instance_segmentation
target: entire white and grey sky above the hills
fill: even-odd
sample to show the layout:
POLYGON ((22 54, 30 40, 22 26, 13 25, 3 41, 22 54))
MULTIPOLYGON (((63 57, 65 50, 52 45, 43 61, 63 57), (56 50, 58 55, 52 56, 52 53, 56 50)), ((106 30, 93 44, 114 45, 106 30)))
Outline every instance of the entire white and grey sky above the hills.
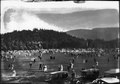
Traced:
POLYGON ((22 2, 1 1, 1 33, 14 30, 69 31, 119 26, 118 1, 22 2))

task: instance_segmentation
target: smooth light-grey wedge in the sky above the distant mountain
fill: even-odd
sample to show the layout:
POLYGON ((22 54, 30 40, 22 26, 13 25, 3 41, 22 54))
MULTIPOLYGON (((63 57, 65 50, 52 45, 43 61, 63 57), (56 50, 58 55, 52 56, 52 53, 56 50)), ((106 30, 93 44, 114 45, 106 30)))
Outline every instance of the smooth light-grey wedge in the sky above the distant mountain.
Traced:
POLYGON ((54 24, 64 30, 115 27, 119 24, 119 13, 116 9, 86 10, 64 14, 38 13, 37 16, 45 22, 54 24))

